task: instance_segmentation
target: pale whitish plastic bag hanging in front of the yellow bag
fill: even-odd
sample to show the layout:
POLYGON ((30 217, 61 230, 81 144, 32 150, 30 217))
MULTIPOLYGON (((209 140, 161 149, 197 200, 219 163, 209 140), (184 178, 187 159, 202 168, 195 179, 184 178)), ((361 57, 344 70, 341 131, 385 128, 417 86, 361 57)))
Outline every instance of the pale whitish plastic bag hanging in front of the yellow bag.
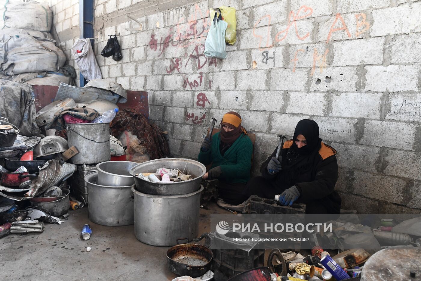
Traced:
MULTIPOLYGON (((216 13, 215 13, 216 14, 216 13)), ((210 23, 210 30, 205 41, 205 56, 216 57, 218 59, 226 58, 225 49, 225 30, 228 24, 219 16, 214 16, 210 23)))

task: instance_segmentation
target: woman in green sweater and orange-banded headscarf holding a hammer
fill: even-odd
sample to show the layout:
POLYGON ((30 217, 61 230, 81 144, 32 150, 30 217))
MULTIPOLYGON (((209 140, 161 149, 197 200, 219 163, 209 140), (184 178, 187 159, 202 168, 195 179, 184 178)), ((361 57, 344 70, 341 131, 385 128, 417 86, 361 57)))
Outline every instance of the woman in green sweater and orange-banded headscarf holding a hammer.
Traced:
MULTIPOLYGON (((212 133, 212 132, 210 132, 212 133)), ((229 111, 221 122, 221 132, 203 140, 197 160, 212 163, 203 179, 218 179, 219 196, 228 204, 242 203, 242 192, 250 179, 253 144, 241 126, 241 116, 229 111)))

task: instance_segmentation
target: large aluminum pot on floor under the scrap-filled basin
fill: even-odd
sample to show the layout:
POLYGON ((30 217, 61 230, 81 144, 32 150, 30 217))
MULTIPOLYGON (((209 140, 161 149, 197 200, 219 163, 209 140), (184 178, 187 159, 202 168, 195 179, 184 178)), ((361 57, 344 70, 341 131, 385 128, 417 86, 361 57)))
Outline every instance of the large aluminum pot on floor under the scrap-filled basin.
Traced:
MULTIPOLYGON (((184 195, 134 193, 134 235, 153 246, 174 246, 191 241, 199 231, 200 189, 184 195)), ((91 195, 89 195, 91 196, 91 195)), ((91 197, 89 198, 91 200, 91 197)))

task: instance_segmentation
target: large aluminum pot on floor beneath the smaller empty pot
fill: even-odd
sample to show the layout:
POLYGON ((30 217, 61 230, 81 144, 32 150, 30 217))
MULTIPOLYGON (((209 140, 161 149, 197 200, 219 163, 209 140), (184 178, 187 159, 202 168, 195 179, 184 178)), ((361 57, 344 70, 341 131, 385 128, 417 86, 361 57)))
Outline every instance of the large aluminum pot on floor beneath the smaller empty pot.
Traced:
POLYGON ((104 186, 96 184, 98 172, 85 176, 88 184, 88 216, 101 225, 123 226, 133 224, 134 204, 130 200, 131 186, 104 186))

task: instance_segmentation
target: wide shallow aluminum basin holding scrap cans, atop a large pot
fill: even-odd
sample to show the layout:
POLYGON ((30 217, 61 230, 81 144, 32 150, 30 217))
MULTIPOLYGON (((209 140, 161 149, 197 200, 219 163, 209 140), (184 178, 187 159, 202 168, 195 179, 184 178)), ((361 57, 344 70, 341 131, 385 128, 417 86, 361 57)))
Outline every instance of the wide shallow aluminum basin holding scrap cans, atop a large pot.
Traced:
POLYGON ((206 173, 206 167, 200 162, 185 158, 161 158, 143 162, 130 170, 134 177, 136 189, 150 195, 181 195, 189 194, 200 189, 202 176, 206 173), (192 180, 173 183, 155 183, 147 181, 138 173, 155 173, 159 168, 178 169, 185 174, 191 175, 192 180))

